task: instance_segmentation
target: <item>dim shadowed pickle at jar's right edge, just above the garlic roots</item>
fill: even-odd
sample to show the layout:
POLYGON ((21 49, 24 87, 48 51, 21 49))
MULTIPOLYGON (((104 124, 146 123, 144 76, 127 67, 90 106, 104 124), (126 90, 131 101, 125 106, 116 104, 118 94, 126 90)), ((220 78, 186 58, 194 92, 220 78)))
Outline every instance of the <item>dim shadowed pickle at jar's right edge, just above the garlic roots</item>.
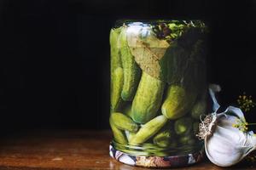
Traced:
POLYGON ((207 101, 200 100, 195 103, 191 110, 191 116, 195 119, 199 119, 201 115, 207 114, 207 101))

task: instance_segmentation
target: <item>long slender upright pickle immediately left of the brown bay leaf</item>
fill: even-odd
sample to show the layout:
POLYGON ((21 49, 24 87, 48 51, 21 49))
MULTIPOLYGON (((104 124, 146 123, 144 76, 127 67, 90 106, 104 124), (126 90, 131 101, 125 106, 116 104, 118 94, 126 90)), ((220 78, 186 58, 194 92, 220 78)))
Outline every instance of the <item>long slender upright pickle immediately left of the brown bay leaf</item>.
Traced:
POLYGON ((125 101, 131 101, 137 90, 141 70, 132 56, 130 48, 128 47, 126 29, 126 27, 122 29, 118 40, 122 66, 124 69, 124 85, 121 97, 125 101))

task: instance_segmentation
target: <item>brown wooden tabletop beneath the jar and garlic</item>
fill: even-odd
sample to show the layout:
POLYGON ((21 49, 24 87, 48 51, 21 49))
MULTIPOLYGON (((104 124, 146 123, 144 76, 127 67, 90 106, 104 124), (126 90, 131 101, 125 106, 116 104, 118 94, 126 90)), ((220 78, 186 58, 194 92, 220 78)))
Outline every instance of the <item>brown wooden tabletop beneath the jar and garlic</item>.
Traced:
MULTIPOLYGON (((110 131, 34 130, 13 133, 0 139, 0 169, 147 169, 131 167, 108 156, 111 138, 110 131)), ((254 167, 243 162, 236 167, 221 168, 206 159, 178 169, 256 169, 254 167)))

